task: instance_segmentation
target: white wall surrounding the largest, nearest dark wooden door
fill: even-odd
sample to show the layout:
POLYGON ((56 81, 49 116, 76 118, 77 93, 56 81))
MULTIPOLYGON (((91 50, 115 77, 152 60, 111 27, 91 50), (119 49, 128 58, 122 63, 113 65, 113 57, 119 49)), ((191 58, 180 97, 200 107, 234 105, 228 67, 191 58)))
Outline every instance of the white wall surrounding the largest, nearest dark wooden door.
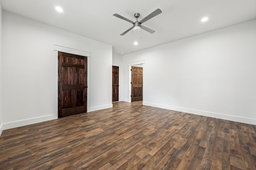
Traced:
POLYGON ((90 53, 87 111, 112 107, 112 46, 5 11, 2 31, 3 129, 58 117, 54 45, 90 53))

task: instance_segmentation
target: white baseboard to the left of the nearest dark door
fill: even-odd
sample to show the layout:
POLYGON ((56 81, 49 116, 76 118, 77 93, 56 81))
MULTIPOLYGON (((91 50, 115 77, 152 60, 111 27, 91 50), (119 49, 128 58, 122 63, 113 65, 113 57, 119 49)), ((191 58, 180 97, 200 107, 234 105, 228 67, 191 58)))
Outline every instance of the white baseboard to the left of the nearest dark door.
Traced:
POLYGON ((56 117, 56 115, 47 115, 47 116, 42 116, 42 117, 35 117, 32 119, 24 119, 24 120, 20 120, 20 121, 3 123, 1 126, 0 132, 2 134, 2 131, 6 130, 6 129, 12 129, 12 128, 16 128, 16 127, 31 125, 34 123, 40 123, 43 121, 48 121, 48 120, 53 120, 53 119, 58 119, 58 117, 56 117))

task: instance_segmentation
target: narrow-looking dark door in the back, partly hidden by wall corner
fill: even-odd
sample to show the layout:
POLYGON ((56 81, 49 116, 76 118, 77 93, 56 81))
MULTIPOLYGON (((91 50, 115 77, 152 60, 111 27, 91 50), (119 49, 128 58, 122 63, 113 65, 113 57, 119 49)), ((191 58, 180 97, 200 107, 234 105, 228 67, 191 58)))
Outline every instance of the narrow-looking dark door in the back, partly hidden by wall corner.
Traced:
POLYGON ((119 67, 112 66, 112 102, 117 102, 119 96, 119 67))

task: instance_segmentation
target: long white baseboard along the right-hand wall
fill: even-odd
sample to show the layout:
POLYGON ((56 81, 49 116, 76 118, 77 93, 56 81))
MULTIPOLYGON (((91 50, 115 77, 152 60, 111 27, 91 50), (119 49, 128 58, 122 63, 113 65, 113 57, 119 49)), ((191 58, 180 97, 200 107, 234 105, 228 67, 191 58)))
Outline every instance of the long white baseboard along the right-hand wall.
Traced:
POLYGON ((218 119, 225 119, 225 120, 229 120, 229 121, 236 121, 236 122, 240 122, 240 123, 256 125, 256 119, 250 119, 247 117, 225 115, 225 114, 221 114, 221 113, 212 113, 212 112, 208 112, 208 111, 186 109, 186 108, 182 108, 182 107, 166 106, 166 105, 154 104, 154 103, 149 103, 149 102, 144 102, 143 104, 146 106, 159 107, 162 109, 181 111, 181 112, 185 112, 185 113, 191 113, 191 114, 196 114, 196 115, 202 115, 202 116, 214 117, 214 118, 218 118, 218 119))

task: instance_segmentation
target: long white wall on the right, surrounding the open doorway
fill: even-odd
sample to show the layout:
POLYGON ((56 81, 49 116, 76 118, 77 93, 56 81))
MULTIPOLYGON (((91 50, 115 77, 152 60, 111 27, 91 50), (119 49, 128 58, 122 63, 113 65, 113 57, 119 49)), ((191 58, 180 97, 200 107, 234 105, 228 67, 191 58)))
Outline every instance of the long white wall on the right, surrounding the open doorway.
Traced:
POLYGON ((145 61, 144 104, 256 125, 256 20, 123 57, 145 61), (169 98, 169 102, 167 102, 169 98))

